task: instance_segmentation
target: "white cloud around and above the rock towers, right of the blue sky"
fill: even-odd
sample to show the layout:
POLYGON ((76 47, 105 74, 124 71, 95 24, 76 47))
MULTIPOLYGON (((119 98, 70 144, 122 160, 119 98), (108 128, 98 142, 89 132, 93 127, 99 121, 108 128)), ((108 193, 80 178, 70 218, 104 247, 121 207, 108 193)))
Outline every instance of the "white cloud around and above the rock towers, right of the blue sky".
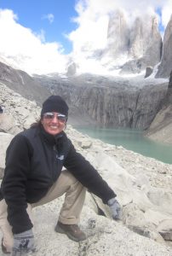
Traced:
MULTIPOLYGON (((117 9, 122 9, 128 25, 132 24, 136 17, 157 15, 156 9, 163 9, 165 4, 169 6, 172 0, 79 0, 76 10, 78 16, 73 19, 77 22, 77 29, 72 31, 68 38, 73 44, 73 55, 76 61, 83 63, 83 59, 89 60, 90 53, 95 49, 103 49, 106 46, 108 17, 117 9)), ((166 7, 166 14, 167 14, 166 7)), ((172 8, 169 9, 171 12, 172 8)), ((169 15, 167 16, 169 19, 169 15)), ((146 18, 145 18, 146 19, 146 18)), ((164 24, 164 23, 163 23, 164 24)))

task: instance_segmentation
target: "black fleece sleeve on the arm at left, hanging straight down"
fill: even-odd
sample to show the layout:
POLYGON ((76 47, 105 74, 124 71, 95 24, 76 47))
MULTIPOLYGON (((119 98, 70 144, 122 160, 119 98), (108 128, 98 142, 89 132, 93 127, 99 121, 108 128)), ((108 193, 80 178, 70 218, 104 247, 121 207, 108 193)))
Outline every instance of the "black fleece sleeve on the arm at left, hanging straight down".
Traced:
POLYGON ((30 169, 30 151, 26 137, 19 134, 9 144, 6 153, 2 193, 8 205, 8 220, 14 234, 32 228, 26 212, 25 186, 30 169))

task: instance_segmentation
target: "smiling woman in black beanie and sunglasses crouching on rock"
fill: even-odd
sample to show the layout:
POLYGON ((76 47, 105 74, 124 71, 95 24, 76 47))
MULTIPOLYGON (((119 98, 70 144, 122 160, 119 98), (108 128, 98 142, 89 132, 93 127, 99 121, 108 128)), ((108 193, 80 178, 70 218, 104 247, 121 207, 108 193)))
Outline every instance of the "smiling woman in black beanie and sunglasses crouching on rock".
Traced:
POLYGON ((3 253, 34 252, 32 208, 65 193, 54 230, 73 241, 86 239, 77 225, 86 189, 99 196, 111 208, 113 218, 118 218, 115 193, 66 137, 67 117, 66 102, 60 96, 49 96, 37 125, 20 132, 9 144, 0 190, 3 253))

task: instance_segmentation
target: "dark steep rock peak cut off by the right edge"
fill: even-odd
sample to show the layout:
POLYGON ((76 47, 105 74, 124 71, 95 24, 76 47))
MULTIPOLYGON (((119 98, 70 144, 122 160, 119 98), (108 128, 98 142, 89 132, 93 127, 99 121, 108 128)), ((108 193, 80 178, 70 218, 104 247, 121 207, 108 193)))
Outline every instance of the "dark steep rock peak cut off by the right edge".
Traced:
POLYGON ((163 55, 156 78, 167 78, 172 71, 172 16, 165 29, 163 38, 163 55))

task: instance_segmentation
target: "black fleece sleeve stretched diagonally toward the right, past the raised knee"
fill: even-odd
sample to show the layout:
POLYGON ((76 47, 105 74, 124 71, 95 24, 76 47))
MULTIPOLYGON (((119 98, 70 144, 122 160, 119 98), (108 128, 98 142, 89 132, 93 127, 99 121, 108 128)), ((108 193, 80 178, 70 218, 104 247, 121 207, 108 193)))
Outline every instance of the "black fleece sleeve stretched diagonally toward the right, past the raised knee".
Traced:
POLYGON ((95 170, 82 154, 77 153, 71 145, 64 166, 77 180, 89 189, 89 192, 99 196, 104 203, 116 196, 105 180, 95 170))

